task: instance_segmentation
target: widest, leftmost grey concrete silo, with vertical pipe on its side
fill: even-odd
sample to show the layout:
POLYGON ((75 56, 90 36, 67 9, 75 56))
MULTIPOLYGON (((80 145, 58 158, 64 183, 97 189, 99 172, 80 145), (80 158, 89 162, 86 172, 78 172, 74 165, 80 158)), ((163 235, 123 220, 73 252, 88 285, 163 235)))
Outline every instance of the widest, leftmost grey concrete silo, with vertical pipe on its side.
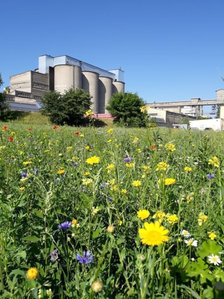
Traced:
POLYGON ((64 93, 69 88, 82 88, 82 68, 77 65, 56 65, 54 89, 64 93))

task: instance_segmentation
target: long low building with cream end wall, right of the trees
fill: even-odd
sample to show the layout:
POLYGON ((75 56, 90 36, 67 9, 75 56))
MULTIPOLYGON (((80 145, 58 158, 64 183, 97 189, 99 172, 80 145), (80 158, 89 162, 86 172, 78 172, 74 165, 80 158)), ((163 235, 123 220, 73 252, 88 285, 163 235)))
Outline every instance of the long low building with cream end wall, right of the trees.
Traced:
MULTIPOLYGON (((155 118, 157 120, 157 124, 160 127, 171 127, 175 124, 179 124, 183 122, 187 115, 182 113, 171 112, 167 110, 154 109, 147 107, 147 113, 149 118, 155 118)), ((189 120, 196 120, 194 116, 188 116, 189 120)), ((150 121, 150 120, 149 120, 150 121)))

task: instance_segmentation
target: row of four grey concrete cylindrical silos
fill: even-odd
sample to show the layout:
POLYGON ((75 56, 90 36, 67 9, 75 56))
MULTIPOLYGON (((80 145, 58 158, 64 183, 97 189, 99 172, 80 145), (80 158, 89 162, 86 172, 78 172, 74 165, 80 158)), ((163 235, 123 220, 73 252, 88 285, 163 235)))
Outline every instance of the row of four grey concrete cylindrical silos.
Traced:
POLYGON ((69 88, 89 90, 94 113, 108 113, 105 107, 113 93, 125 91, 125 83, 113 81, 111 77, 99 76, 93 71, 82 71, 76 65, 56 65, 54 67, 54 89, 61 93, 69 88))

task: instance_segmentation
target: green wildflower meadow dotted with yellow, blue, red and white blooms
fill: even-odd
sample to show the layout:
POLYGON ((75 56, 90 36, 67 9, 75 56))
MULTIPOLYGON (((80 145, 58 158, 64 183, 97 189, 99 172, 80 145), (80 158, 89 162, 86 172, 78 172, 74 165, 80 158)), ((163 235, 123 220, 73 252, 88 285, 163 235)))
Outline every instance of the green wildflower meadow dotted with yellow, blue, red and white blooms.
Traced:
POLYGON ((224 298, 223 144, 1 123, 1 298, 224 298))

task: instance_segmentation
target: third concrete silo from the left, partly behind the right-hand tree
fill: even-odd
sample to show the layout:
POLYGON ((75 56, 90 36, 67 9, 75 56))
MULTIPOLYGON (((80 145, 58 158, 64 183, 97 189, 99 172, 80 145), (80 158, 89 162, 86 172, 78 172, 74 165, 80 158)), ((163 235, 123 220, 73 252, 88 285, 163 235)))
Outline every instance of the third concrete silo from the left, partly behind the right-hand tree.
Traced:
POLYGON ((106 106, 112 97, 112 82, 112 78, 99 77, 99 113, 109 113, 106 106))

